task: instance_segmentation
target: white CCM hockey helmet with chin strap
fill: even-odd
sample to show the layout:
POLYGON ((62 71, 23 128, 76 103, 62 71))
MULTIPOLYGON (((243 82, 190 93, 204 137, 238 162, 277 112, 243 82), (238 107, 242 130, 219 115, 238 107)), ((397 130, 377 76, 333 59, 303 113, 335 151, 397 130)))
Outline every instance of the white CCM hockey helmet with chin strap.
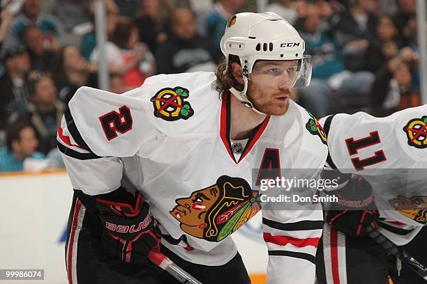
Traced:
MULTIPOLYGON (((230 55, 239 56, 244 74, 244 90, 230 91, 247 107, 257 111, 248 100, 248 79, 256 61, 298 60, 298 74, 290 88, 310 84, 312 65, 304 56, 305 42, 294 27, 276 13, 239 13, 230 18, 220 42, 226 63, 230 55)), ((260 111, 257 111, 260 112, 260 111)))

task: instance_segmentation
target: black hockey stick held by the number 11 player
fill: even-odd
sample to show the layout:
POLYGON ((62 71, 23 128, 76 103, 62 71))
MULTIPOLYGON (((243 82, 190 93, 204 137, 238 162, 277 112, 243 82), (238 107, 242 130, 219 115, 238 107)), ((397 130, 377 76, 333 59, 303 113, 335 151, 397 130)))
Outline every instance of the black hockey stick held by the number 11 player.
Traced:
POLYGON ((403 264, 405 264, 417 275, 421 276, 421 278, 427 281, 427 268, 424 267, 424 265, 421 265, 418 260, 412 258, 412 256, 409 255, 406 251, 403 251, 403 249, 396 246, 396 244, 382 235, 382 233, 374 226, 368 226, 366 228, 366 232, 368 233, 368 236, 377 244, 382 246, 382 248, 384 248, 389 255, 393 255, 396 259, 398 259, 398 261, 400 260, 403 262, 403 264))

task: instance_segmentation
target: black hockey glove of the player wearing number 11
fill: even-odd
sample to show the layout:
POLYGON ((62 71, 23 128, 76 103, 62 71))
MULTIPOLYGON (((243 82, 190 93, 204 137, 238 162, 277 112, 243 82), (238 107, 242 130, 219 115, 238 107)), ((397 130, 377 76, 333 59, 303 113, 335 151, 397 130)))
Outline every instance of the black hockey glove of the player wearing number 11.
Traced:
POLYGON ((366 228, 375 225, 379 216, 370 184, 364 178, 351 178, 335 194, 338 204, 327 213, 327 222, 345 235, 366 235, 366 228))

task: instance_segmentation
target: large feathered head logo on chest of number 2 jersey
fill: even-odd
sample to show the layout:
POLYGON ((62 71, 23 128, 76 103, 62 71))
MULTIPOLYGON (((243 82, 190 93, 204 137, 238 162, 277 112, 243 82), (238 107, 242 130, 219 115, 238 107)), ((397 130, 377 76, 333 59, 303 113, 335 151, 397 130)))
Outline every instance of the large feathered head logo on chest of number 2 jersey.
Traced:
POLYGON ((258 191, 246 180, 227 175, 175 202, 170 214, 181 223, 181 230, 209 242, 222 241, 261 209, 258 191))

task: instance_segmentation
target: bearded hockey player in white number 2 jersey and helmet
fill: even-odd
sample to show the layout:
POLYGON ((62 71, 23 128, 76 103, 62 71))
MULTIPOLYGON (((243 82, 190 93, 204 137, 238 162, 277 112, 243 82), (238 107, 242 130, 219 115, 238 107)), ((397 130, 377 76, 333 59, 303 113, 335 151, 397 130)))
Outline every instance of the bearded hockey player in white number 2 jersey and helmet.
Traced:
MULTIPOLYGON (((252 169, 317 168, 316 178, 327 146, 290 100, 311 74, 290 24, 239 13, 220 47, 215 74, 160 74, 120 96, 83 87, 70 101, 58 132, 75 190, 70 283, 175 283, 151 249, 204 284, 250 283, 229 236, 260 210, 252 169)), ((313 284, 320 205, 264 209, 269 283, 313 284)))

